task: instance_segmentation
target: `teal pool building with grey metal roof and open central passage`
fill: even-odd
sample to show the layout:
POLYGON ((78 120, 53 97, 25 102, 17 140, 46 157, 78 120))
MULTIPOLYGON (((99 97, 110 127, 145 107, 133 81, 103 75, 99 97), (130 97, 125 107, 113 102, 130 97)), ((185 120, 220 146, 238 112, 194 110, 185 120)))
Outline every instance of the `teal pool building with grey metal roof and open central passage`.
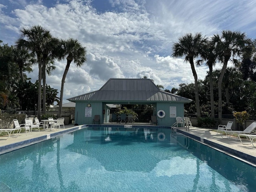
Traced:
POLYGON ((110 78, 100 90, 68 98, 76 103, 74 123, 92 124, 94 116, 100 123, 109 122, 107 104, 152 104, 159 126, 170 126, 176 117, 184 116, 184 104, 192 100, 160 90, 151 79, 110 78))

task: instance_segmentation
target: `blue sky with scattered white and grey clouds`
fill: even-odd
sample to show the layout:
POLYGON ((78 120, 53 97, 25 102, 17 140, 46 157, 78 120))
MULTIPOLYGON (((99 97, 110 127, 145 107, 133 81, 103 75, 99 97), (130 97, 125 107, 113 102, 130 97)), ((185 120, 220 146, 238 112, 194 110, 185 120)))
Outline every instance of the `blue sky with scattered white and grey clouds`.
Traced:
MULTIPOLYGON (((210 37, 222 30, 255 39, 256 0, 0 0, 4 44, 15 44, 20 29, 34 25, 86 47, 87 62, 81 68, 72 63, 68 70, 67 103, 67 98, 99 90, 110 78, 147 76, 169 90, 194 83, 190 64, 171 56, 173 43, 186 33, 210 37)), ((60 92, 66 60, 55 66, 46 83, 60 92)), ((33 70, 27 76, 34 83, 38 66, 33 70)), ((196 72, 204 80, 208 67, 196 72)))

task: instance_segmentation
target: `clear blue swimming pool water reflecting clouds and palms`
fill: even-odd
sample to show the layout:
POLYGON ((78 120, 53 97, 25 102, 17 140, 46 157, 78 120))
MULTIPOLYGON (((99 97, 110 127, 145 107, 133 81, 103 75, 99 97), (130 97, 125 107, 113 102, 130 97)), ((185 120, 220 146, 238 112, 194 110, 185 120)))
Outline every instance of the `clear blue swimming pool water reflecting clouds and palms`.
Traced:
POLYGON ((88 127, 0 155, 12 192, 249 192, 255 181, 255 167, 164 128, 88 127))

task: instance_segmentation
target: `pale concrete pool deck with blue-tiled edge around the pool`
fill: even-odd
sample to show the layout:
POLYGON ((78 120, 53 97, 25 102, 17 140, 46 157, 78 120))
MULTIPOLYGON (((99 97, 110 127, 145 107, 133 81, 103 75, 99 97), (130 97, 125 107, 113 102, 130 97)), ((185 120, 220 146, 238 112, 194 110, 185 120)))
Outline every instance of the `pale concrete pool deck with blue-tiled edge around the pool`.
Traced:
MULTIPOLYGON (((111 124, 103 124, 103 125, 111 125, 111 124)), ((116 124, 112 124, 116 125, 116 124)), ((118 124, 124 125, 124 124, 118 124)), ((150 126, 150 124, 126 124, 126 125, 140 125, 140 126, 150 126)), ((51 137, 56 137, 64 133, 72 132, 78 130, 79 126, 74 126, 74 124, 65 125, 65 129, 61 127, 61 129, 57 130, 40 130, 33 131, 31 134, 26 136, 26 133, 21 133, 17 138, 7 138, 7 136, 0 137, 0 154, 10 152, 12 150, 16 150, 18 148, 22 148, 24 146, 28 146, 37 142, 41 142, 46 140, 47 135, 51 135, 51 137)), ((197 128, 192 127, 190 131, 186 131, 186 129, 177 129, 176 132, 182 133, 186 136, 189 136, 192 139, 198 140, 204 144, 207 144, 213 148, 216 148, 220 151, 226 152, 227 154, 231 154, 238 159, 244 160, 253 166, 256 166, 256 148, 253 148, 252 145, 243 145, 240 140, 228 140, 226 137, 221 137, 220 134, 217 135, 216 132, 212 131, 212 129, 208 128, 197 128)), ((250 144, 249 141, 244 140, 245 144, 250 144)))

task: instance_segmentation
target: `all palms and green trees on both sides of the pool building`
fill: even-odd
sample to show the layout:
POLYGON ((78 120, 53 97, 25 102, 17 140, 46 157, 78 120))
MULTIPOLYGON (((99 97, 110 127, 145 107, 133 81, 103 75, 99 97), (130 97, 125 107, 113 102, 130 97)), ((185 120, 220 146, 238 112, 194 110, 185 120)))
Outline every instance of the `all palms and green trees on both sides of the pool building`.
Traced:
MULTIPOLYGON (((230 30, 211 37, 188 33, 174 43, 172 56, 190 63, 195 82, 164 91, 192 99, 193 102, 185 105, 188 113, 196 113, 198 117, 201 113, 211 114, 214 118, 218 111, 219 121, 222 114, 244 109, 256 115, 256 40, 230 30), (229 61, 234 64, 233 68, 227 68, 229 61), (213 70, 218 62, 222 68, 213 70), (195 70, 201 65, 209 67, 204 80, 198 80, 195 70)), ((86 60, 86 47, 78 40, 55 38, 39 25, 22 28, 14 45, 0 41, 0 109, 37 110, 40 118, 41 108, 44 114, 46 108, 57 101, 58 116, 61 116, 64 82, 70 64, 74 62, 80 67, 86 60), (58 90, 46 84, 46 74, 50 75, 55 69, 56 60, 64 59, 66 68, 58 98, 58 90), (32 72, 32 65, 38 65, 38 80, 34 84, 25 73, 32 72)))

